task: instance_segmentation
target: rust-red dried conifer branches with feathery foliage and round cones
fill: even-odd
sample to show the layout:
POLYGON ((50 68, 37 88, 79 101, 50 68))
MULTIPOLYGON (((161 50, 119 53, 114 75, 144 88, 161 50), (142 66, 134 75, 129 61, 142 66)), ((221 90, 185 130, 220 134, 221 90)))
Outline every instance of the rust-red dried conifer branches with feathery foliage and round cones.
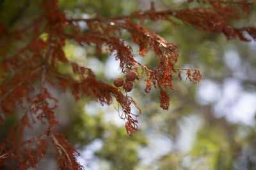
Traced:
POLYGON ((141 111, 132 97, 118 88, 123 85, 123 81, 118 80, 116 83, 115 80, 116 87, 113 87, 96 80, 90 68, 70 62, 63 52, 67 39, 81 46, 96 45, 99 52, 101 46, 108 46, 110 52, 116 52, 115 59, 120 61, 120 69, 126 74, 125 91, 132 90, 132 83, 129 81, 140 80, 140 75, 145 74, 145 92, 150 92, 152 86, 158 88, 160 106, 164 110, 168 110, 170 103, 166 90, 175 90, 172 83, 175 74, 181 79, 181 71, 186 71, 187 78, 192 83, 198 83, 201 75, 196 69, 175 68, 179 57, 177 45, 168 43, 161 36, 148 30, 143 25, 144 20, 169 20, 174 23, 174 17, 201 31, 215 34, 223 32, 227 39, 237 36, 242 41, 250 41, 244 33, 256 39, 255 27, 234 28, 230 25, 231 20, 239 20, 250 14, 250 3, 246 0, 204 0, 202 3, 207 4, 204 7, 166 11, 155 11, 152 4, 148 11, 136 11, 131 15, 119 17, 89 19, 68 19, 61 13, 57 3, 58 0, 42 0, 42 15, 29 25, 17 27, 14 32, 8 30, 8 25, 0 23, 1 48, 4 49, 0 53, 3 58, 0 62, 1 124, 7 115, 13 113, 17 105, 23 110, 19 124, 10 130, 8 138, 0 145, 0 167, 4 162, 13 161, 18 162, 17 167, 21 169, 36 167, 44 157, 45 149, 52 143, 60 169, 83 169, 76 160, 79 155, 77 150, 65 140, 63 134, 55 130, 59 125, 54 115, 58 101, 45 88, 45 83, 60 87, 63 92, 69 89, 76 101, 85 96, 92 96, 100 104, 109 105, 115 98, 122 107, 119 115, 126 120, 127 134, 132 136, 138 130, 137 118, 141 111), (77 22, 80 21, 86 22, 90 33, 79 30, 77 22), (67 31, 68 28, 71 32, 67 31), (132 53, 131 45, 120 38, 123 30, 129 32, 132 41, 140 47, 141 57, 150 50, 155 53, 159 58, 156 68, 143 66, 134 59, 136 55, 132 53), (40 38, 43 33, 47 35, 47 39, 40 38), (10 56, 13 43, 24 39, 29 39, 28 45, 10 56), (73 73, 79 76, 78 80, 58 71, 58 66, 63 63, 72 66, 73 73), (143 69, 140 74, 138 67, 143 69), (138 109, 138 113, 131 113, 131 104, 138 109), (31 139, 23 139, 24 128, 33 129, 35 122, 46 124, 48 128, 31 139))

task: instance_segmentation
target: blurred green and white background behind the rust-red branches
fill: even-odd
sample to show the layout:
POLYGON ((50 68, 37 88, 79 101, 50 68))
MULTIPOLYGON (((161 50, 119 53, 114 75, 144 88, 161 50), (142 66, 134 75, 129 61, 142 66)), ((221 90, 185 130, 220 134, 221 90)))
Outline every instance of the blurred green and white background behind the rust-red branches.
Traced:
MULTIPOLYGON (((2 22, 10 22, 12 29, 19 27, 19 20, 12 21, 14 11, 27 6, 20 18, 22 22, 38 15, 33 9, 38 1, 3 2, 0 18, 2 22)), ((182 0, 154 3, 157 11, 198 5, 182 0)), ((59 4, 68 18, 113 17, 150 8, 147 0, 59 0, 59 4)), ((250 8, 250 18, 230 24, 256 26, 256 4, 250 8)), ((146 94, 145 81, 137 81, 129 95, 134 97, 142 114, 138 119, 138 132, 132 137, 127 135, 125 122, 118 117, 114 106, 101 106, 91 97, 76 103, 70 93, 64 94, 49 85, 53 96, 59 99, 58 131, 79 149, 79 162, 87 170, 256 169, 256 42, 228 41, 223 34, 198 31, 181 22, 175 26, 167 21, 146 21, 145 24, 168 42, 177 44, 180 56, 176 68, 198 69, 202 80, 197 85, 186 78, 173 81, 180 91, 169 90, 168 111, 159 107, 159 90, 146 94)), ((88 30, 84 22, 79 25, 81 30, 88 30)), ((129 34, 126 37, 132 45, 129 34)), ((138 54, 138 46, 132 47, 138 54)), ((72 41, 67 41, 65 53, 80 66, 90 67, 98 80, 111 84, 115 78, 124 77, 115 53, 99 54, 95 46, 77 46, 72 41)), ((157 63, 154 53, 150 52, 147 57, 136 57, 136 60, 149 67, 157 63)), ((64 69, 71 72, 65 66, 64 69)), ((19 113, 11 115, 1 125, 0 141, 18 117, 19 113)), ((35 133, 40 128, 36 126, 35 133)), ((56 166, 54 152, 49 147, 38 169, 58 169, 56 166)))

